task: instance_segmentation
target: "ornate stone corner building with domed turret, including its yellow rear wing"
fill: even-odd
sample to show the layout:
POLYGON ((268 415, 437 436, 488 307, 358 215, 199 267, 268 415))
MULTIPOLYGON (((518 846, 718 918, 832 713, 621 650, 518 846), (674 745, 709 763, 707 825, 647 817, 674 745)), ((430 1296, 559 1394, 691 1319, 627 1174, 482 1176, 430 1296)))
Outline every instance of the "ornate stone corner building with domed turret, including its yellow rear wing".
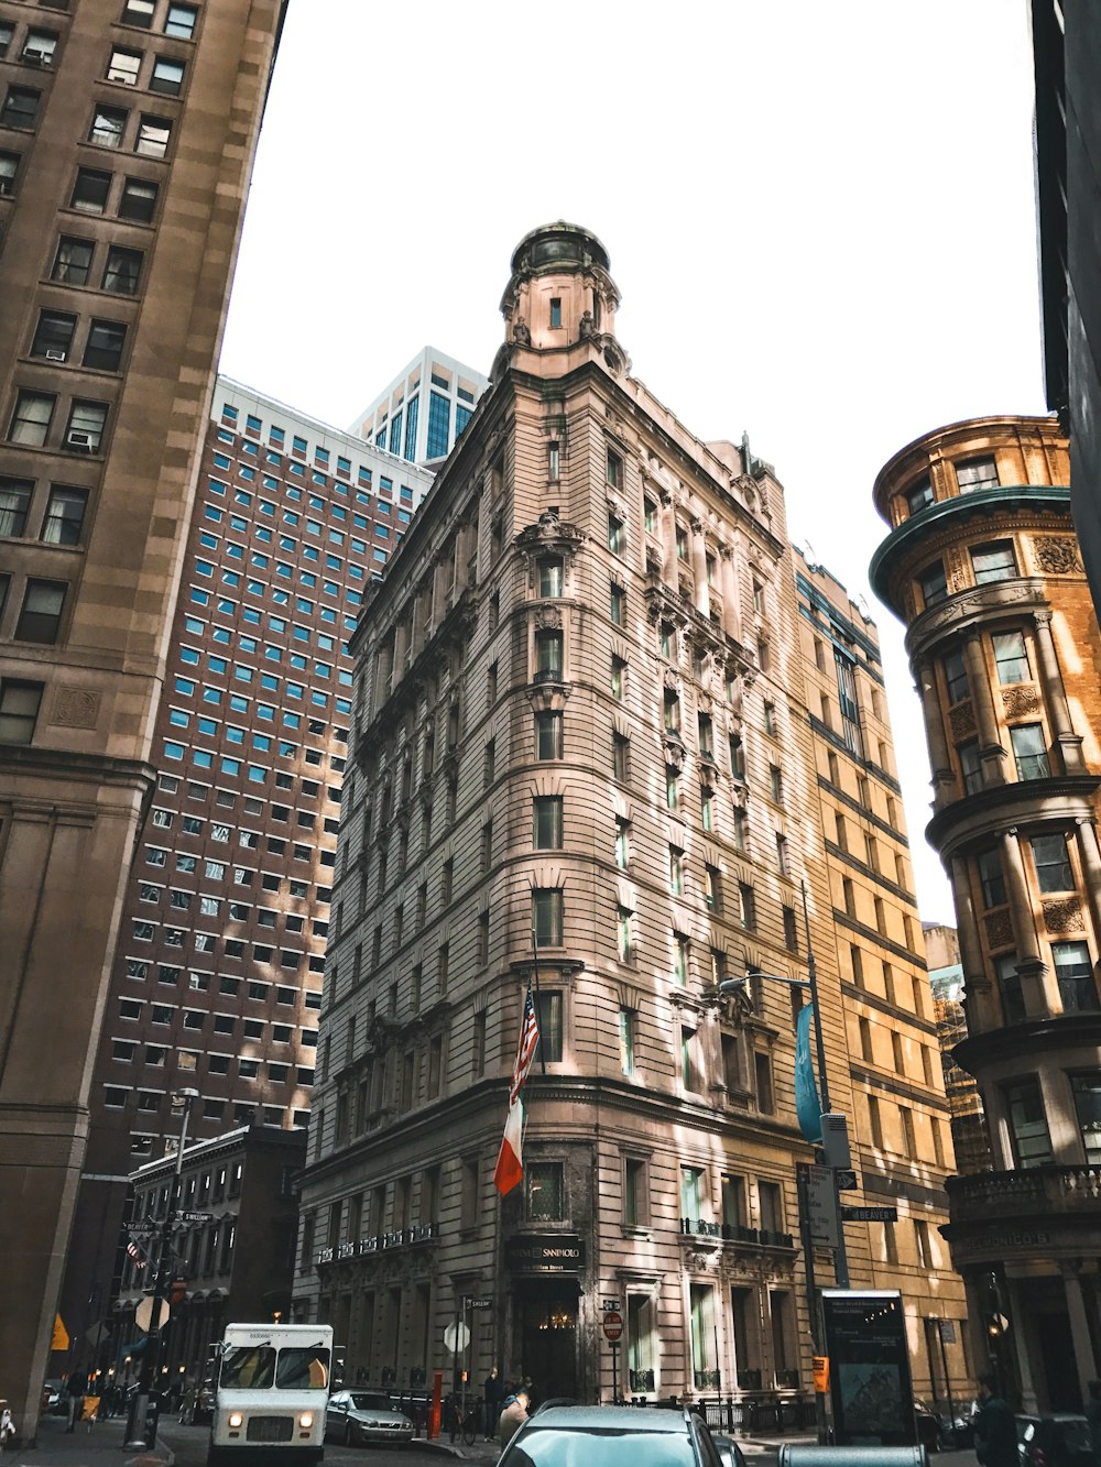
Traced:
POLYGON ((615 1300, 621 1392, 806 1400, 793 990, 716 995, 804 974, 806 883, 835 1106, 901 1219, 850 1226, 850 1266, 903 1281, 928 1388, 920 1320, 959 1322, 962 1291, 873 628, 797 577, 771 467, 630 376, 617 304, 593 235, 521 241, 492 386, 352 640, 295 1310, 335 1323, 354 1379, 498 1363, 608 1398, 615 1300))

